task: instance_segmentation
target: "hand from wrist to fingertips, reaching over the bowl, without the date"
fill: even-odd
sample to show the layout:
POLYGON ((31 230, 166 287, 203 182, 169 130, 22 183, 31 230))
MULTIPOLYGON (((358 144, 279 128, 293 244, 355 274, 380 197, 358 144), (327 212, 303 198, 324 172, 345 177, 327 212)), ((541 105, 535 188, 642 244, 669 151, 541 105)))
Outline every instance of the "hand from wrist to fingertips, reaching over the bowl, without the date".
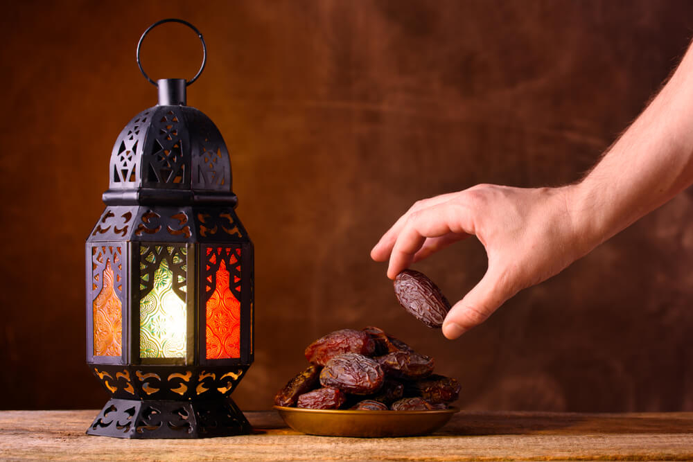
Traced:
POLYGON ((593 247, 579 231, 570 188, 511 188, 480 184, 416 202, 380 238, 371 258, 389 258, 387 277, 458 240, 476 236, 489 266, 453 305, 443 334, 455 339, 482 323, 511 296, 561 272, 593 247))

